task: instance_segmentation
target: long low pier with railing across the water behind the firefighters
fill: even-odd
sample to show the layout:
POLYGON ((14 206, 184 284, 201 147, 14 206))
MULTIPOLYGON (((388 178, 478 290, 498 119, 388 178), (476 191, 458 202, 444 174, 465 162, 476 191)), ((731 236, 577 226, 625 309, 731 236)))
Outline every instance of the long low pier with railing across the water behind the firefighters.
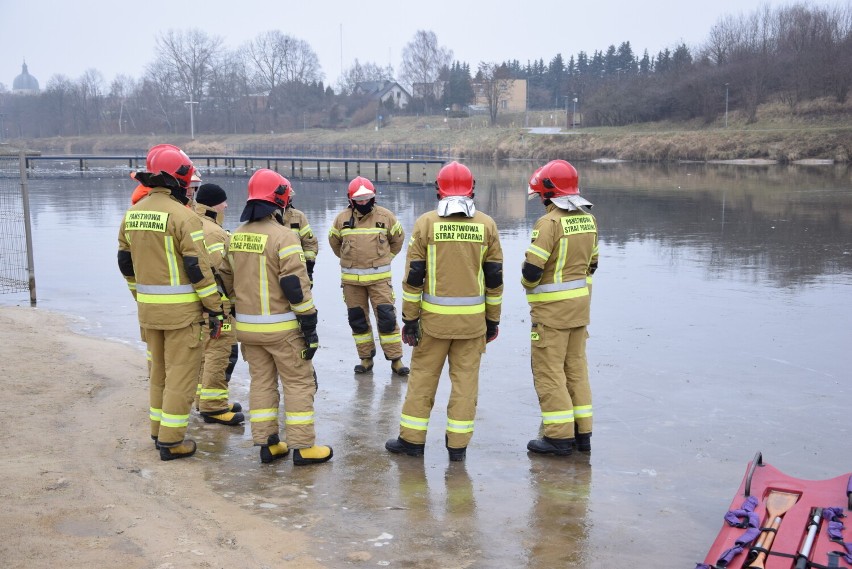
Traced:
MULTIPOLYGON (((405 169, 405 183, 429 183, 435 179, 437 170, 446 160, 442 158, 323 158, 297 156, 237 156, 237 155, 193 155, 193 164, 201 172, 224 175, 250 175, 260 168, 269 168, 294 179, 334 179, 333 174, 342 171, 341 179, 349 180, 355 176, 371 177, 373 181, 401 182, 394 180, 393 172, 399 168, 405 169), (332 168, 334 165, 334 168, 332 168), (420 179, 412 167, 420 167, 420 179), (432 170, 431 175, 429 170, 432 170), (384 177, 382 177, 382 175, 384 177)), ((145 156, 97 155, 97 154, 65 154, 27 156, 26 168, 33 171, 37 162, 76 163, 79 171, 90 171, 93 165, 119 162, 127 164, 128 171, 138 171, 145 168, 145 156)), ((103 166, 102 166, 103 167, 103 166)), ((399 174, 397 174, 399 176, 399 174)))

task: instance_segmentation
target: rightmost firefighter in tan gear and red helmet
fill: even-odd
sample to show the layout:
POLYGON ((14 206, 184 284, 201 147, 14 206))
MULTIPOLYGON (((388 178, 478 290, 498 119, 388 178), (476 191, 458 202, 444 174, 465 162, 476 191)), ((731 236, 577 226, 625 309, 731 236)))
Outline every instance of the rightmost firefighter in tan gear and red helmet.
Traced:
POLYGON ((592 391, 586 362, 590 280, 598 266, 598 226, 580 196, 577 170, 553 160, 530 180, 547 213, 536 221, 522 268, 530 305, 533 380, 542 437, 527 450, 567 456, 591 451, 592 391))

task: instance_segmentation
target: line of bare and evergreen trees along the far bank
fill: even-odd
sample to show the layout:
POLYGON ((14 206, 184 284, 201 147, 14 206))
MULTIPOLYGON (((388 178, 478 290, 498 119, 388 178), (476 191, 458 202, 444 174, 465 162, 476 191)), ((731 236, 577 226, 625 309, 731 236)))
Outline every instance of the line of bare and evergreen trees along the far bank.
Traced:
MULTIPOLYGON (((737 109, 748 121, 761 103, 791 108, 830 97, 845 102, 852 84, 852 9, 795 4, 724 16, 706 41, 638 56, 629 41, 567 60, 557 54, 521 64, 452 60, 432 32, 419 31, 403 50, 402 73, 357 60, 325 85, 319 61, 304 41, 279 31, 229 50, 197 29, 157 38, 155 59, 142 78, 120 75, 107 87, 96 70, 72 80, 51 77, 35 95, 0 86, 0 135, 265 133, 341 128, 375 120, 379 111, 356 86, 399 80, 417 95, 406 109, 386 112, 465 114, 475 94, 492 93, 492 122, 506 89, 527 81, 527 108, 576 111, 586 126, 651 121, 718 120, 737 109), (429 57, 423 57, 430 54, 429 57), (434 83, 431 89, 422 85, 434 83), (417 85, 421 85, 418 89, 417 85), (483 88, 485 87, 485 89, 483 88), (412 89, 412 87, 414 87, 412 89), (192 123, 192 124, 190 124, 192 123)), ((579 121, 578 121, 579 122, 579 121)))

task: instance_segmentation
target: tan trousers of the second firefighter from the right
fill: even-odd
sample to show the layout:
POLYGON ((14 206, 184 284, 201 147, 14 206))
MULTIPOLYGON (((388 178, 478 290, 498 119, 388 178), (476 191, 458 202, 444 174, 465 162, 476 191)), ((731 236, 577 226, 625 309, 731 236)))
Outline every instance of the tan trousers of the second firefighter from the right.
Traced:
POLYGON ((415 444, 426 442, 429 415, 435 404, 444 362, 450 363, 452 388, 447 403, 447 446, 465 448, 473 437, 473 419, 479 394, 479 363, 485 336, 466 340, 423 334, 411 355, 411 375, 402 405, 399 436, 415 444))

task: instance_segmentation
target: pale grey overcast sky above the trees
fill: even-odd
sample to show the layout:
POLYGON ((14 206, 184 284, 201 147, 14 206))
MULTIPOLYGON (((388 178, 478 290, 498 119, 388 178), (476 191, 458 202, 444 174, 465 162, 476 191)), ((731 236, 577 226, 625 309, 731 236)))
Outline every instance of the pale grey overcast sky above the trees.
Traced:
MULTIPOLYGON (((143 75, 155 37, 196 27, 236 48, 269 30, 305 40, 317 53, 326 85, 361 63, 401 69, 403 48, 417 30, 433 31, 455 60, 473 71, 481 61, 567 61, 629 41, 651 56, 681 42, 703 44, 725 15, 747 15, 761 0, 0 0, 0 83, 11 89, 26 60, 42 89, 54 74, 79 78, 88 69, 108 87, 118 74, 143 75)), ((836 5, 818 2, 814 5, 836 5)))

